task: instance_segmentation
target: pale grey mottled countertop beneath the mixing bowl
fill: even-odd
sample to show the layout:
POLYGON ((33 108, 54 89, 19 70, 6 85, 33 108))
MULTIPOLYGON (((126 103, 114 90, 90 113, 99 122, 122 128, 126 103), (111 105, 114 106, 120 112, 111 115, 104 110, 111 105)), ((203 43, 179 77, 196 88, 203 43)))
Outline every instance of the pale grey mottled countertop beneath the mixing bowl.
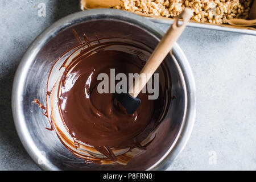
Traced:
MULTIPOLYGON (((0 1, 0 170, 40 169, 16 134, 11 86, 32 40, 76 11, 74 0, 0 1), (46 17, 38 16, 39 3, 46 4, 46 17)), ((169 169, 256 170, 256 36, 187 28, 178 44, 195 76, 197 115, 187 146, 169 169)))

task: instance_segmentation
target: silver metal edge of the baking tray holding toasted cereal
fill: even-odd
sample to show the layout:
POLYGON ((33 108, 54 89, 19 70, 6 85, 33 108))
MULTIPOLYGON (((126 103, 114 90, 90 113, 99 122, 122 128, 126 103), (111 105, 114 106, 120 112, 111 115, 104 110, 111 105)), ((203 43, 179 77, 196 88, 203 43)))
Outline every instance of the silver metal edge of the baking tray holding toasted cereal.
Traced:
MULTIPOLYGON (((79 1, 79 8, 80 10, 84 11, 81 0, 79 1)), ((85 10, 86 11, 86 10, 85 10)), ((121 10, 123 11, 123 10, 121 10)), ((160 18, 152 18, 144 16, 145 18, 151 20, 154 23, 161 23, 161 24, 172 24, 174 22, 173 19, 160 19, 160 18)), ((217 30, 217 31, 226 31, 226 32, 236 32, 238 34, 247 34, 247 35, 254 35, 256 36, 256 30, 247 30, 241 28, 233 28, 233 27, 223 27, 215 24, 208 24, 208 23, 196 23, 196 22, 188 22, 187 27, 194 27, 194 28, 204 28, 209 30, 217 30)))

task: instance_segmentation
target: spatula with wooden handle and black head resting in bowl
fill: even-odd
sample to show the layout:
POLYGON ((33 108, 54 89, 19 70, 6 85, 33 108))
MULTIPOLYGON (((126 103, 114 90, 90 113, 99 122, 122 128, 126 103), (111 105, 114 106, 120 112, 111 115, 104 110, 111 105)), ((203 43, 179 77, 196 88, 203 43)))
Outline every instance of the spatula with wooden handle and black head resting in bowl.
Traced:
MULTIPOLYGON (((171 51, 175 41, 187 26, 187 22, 191 19, 192 15, 192 11, 185 8, 179 17, 174 20, 174 23, 160 40, 158 46, 156 46, 154 52, 142 68, 140 74, 153 75, 155 73, 156 69, 158 69, 164 58, 171 51), (182 24, 179 24, 179 19, 183 19, 182 24)), ((129 88, 128 93, 121 93, 115 96, 117 101, 124 107, 127 114, 133 114, 141 105, 141 100, 139 100, 137 96, 147 84, 148 80, 150 80, 150 77, 147 77, 146 80, 136 77, 133 86, 129 88)))

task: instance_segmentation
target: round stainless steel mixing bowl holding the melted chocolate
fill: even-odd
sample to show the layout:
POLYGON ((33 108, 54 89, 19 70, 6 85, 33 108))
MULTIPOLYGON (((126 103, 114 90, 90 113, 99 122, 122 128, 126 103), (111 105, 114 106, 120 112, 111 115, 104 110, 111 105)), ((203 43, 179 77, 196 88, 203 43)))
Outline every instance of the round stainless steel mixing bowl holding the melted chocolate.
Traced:
POLYGON ((20 61, 13 84, 13 115, 16 130, 28 154, 42 169, 47 170, 154 170, 166 169, 183 150, 195 121, 195 81, 188 60, 177 44, 162 64, 171 77, 166 117, 156 138, 146 152, 136 156, 127 166, 85 163, 67 150, 49 127, 48 119, 32 101, 38 98, 46 105, 47 77, 55 60, 77 46, 75 30, 89 38, 117 36, 134 39, 155 48, 164 32, 146 18, 126 11, 97 9, 75 13, 60 19, 38 36, 20 61))

